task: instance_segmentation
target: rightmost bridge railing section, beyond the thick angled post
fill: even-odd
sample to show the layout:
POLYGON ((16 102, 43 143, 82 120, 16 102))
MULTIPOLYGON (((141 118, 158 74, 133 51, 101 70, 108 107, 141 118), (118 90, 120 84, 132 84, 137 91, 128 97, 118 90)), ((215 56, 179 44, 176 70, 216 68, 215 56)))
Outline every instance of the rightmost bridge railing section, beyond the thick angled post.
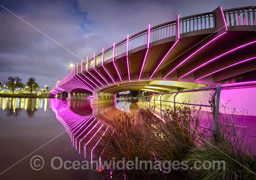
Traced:
POLYGON ((224 10, 227 26, 256 26, 255 6, 224 10))

